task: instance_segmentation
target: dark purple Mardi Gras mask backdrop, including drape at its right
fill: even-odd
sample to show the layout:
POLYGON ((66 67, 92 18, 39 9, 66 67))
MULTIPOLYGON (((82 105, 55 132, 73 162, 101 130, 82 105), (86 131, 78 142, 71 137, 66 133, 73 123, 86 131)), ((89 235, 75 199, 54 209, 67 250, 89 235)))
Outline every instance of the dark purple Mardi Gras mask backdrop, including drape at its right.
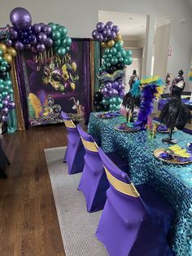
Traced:
POLYGON ((89 116, 89 39, 73 39, 72 51, 63 57, 53 49, 37 55, 25 51, 24 64, 31 126, 61 122, 61 111, 89 116))

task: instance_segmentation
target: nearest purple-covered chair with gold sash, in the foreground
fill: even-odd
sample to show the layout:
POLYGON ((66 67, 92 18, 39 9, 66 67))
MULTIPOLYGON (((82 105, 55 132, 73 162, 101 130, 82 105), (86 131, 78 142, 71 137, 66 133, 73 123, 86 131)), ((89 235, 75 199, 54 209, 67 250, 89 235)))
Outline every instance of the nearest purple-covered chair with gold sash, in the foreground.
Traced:
POLYGON ((129 176, 99 155, 110 187, 96 236, 110 256, 171 256, 167 236, 174 217, 166 201, 146 184, 134 187, 129 176))

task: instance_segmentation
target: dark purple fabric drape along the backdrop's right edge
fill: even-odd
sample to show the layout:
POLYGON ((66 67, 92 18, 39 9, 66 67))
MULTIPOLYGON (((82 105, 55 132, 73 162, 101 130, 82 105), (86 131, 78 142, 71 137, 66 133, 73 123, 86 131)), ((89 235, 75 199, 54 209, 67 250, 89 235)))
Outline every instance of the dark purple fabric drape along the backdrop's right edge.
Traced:
POLYGON ((90 79, 90 45, 89 39, 84 39, 84 60, 83 60, 83 82, 85 88, 85 124, 89 121, 89 114, 92 111, 91 105, 91 79, 90 79))

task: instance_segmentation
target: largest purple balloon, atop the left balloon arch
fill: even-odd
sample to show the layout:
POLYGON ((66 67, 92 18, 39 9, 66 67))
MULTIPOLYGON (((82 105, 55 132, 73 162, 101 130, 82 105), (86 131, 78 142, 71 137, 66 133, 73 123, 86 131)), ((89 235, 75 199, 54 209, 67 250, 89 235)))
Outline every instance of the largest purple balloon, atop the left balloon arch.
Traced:
POLYGON ((11 11, 10 14, 11 24, 20 30, 28 29, 32 24, 32 17, 30 13, 21 7, 17 7, 11 11))

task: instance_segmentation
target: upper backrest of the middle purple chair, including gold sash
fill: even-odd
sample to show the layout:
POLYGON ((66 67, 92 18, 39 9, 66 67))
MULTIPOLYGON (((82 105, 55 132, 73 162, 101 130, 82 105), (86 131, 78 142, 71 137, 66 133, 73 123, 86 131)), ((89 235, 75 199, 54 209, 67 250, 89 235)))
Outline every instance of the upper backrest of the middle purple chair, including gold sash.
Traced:
POLYGON ((84 145, 85 151, 93 154, 98 155, 98 145, 94 141, 94 138, 87 134, 81 127, 81 125, 77 125, 77 130, 79 132, 79 135, 81 137, 81 141, 84 145))

